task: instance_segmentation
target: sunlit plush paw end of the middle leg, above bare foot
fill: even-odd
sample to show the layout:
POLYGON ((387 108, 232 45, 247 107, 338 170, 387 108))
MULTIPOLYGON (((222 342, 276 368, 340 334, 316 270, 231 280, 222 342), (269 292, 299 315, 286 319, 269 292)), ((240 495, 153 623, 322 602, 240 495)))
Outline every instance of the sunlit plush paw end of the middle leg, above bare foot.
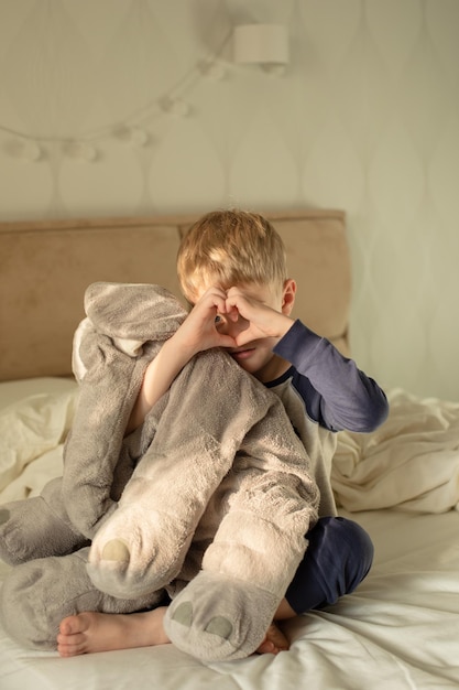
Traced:
POLYGON ((177 576, 192 538, 171 515, 119 508, 92 541, 88 575, 112 596, 144 596, 177 576))

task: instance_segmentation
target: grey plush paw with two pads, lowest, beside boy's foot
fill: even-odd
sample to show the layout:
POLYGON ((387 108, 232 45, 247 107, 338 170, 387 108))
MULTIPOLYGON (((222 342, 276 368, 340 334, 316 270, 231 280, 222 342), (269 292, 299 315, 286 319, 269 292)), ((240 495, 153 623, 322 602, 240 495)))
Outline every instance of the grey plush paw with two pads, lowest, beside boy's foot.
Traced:
POLYGON ((203 661, 240 659, 260 647, 278 604, 254 584, 201 571, 174 599, 164 627, 178 649, 203 661))

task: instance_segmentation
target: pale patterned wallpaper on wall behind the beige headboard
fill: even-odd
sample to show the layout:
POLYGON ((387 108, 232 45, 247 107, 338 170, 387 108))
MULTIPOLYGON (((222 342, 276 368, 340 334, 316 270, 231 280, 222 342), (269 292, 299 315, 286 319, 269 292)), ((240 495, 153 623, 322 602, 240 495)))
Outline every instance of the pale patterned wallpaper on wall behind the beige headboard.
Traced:
POLYGON ((0 219, 343 208, 359 365, 459 400, 458 34, 459 0, 0 0, 0 219), (231 63, 247 22, 283 75, 231 63))

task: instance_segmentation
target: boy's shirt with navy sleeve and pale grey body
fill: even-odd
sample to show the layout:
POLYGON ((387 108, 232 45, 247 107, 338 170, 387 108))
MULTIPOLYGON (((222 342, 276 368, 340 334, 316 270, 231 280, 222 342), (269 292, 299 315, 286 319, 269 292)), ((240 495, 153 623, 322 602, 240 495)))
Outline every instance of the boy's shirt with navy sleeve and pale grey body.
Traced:
POLYGON ((265 384, 276 392, 312 460, 320 489, 319 515, 336 515, 330 474, 337 434, 370 432, 384 422, 384 391, 327 338, 295 321, 274 354, 292 366, 265 384))

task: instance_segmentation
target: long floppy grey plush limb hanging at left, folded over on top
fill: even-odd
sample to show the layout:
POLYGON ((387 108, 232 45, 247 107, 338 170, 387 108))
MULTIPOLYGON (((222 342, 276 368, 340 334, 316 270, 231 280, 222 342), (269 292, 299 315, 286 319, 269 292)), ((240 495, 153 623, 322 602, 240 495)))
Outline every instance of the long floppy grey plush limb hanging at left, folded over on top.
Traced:
POLYGON ((92 539, 116 507, 113 472, 144 370, 186 312, 159 285, 122 283, 89 285, 85 310, 74 338, 81 388, 64 451, 63 495, 72 522, 92 539))

